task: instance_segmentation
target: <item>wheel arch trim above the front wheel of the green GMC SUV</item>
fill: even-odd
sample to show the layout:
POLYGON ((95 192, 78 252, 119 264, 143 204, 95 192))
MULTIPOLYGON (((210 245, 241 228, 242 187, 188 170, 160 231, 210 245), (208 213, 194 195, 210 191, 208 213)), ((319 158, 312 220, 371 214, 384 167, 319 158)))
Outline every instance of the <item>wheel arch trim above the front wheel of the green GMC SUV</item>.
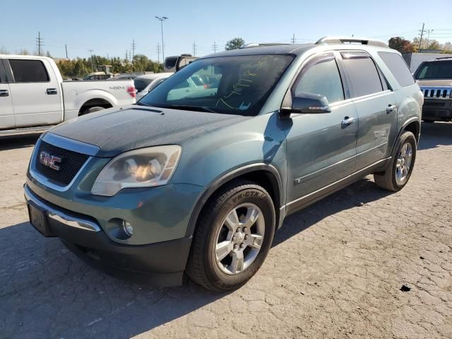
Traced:
POLYGON ((276 228, 278 228, 278 225, 281 224, 280 218, 282 218, 280 206, 283 206, 283 183, 281 181, 281 176, 278 169, 273 165, 258 163, 239 167, 231 172, 222 174, 208 185, 208 189, 206 189, 198 199, 194 211, 191 213, 189 225, 186 230, 186 237, 193 236, 199 215, 201 215, 204 206, 206 206, 206 203, 213 194, 221 189, 222 186, 225 186, 236 179, 248 179, 252 182, 256 182, 256 184, 268 191, 275 206, 276 228))

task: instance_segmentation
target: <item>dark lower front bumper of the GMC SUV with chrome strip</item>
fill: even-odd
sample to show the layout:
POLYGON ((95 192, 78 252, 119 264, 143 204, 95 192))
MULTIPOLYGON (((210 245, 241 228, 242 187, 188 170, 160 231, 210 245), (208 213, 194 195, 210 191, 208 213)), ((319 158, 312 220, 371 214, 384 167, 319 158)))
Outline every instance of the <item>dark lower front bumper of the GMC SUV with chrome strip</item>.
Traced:
POLYGON ((115 275, 126 273, 130 278, 145 278, 157 286, 182 283, 191 237, 145 245, 119 244, 109 239, 93 218, 54 206, 34 194, 27 185, 24 189, 25 201, 38 206, 48 216, 46 236, 59 237, 89 263, 103 266, 115 275))

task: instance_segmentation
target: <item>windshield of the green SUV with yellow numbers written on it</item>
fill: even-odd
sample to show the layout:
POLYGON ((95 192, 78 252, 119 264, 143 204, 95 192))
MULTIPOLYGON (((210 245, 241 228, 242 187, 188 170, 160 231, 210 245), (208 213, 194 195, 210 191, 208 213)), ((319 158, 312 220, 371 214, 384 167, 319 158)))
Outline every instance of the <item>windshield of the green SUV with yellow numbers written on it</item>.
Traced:
POLYGON ((141 104, 256 115, 292 59, 288 55, 198 59, 143 97, 141 104))

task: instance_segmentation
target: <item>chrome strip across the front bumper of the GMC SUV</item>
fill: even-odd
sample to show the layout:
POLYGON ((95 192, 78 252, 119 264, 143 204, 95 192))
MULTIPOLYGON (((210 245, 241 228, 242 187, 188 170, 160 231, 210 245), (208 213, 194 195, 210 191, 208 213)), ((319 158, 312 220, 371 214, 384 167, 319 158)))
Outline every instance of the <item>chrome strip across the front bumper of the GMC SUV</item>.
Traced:
POLYGON ((87 230, 91 232, 100 232, 100 227, 95 222, 91 220, 85 220, 82 218, 74 217, 73 215, 61 212, 61 210, 56 210, 48 206, 47 204, 43 203, 42 201, 40 201, 39 198, 35 196, 35 194, 32 193, 32 191, 28 188, 27 185, 24 186, 24 195, 25 200, 27 202, 32 201, 43 210, 46 210, 47 216, 52 220, 61 222, 61 224, 64 224, 69 227, 80 228, 81 230, 87 230))

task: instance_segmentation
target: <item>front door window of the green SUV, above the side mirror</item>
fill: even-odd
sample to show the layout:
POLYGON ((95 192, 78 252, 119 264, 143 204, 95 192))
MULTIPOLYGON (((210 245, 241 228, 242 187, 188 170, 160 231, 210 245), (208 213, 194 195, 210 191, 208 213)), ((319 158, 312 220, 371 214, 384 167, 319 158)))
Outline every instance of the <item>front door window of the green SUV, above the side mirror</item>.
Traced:
POLYGON ((303 70, 295 87, 295 96, 300 93, 323 95, 328 102, 344 100, 342 81, 335 59, 324 59, 303 70))

